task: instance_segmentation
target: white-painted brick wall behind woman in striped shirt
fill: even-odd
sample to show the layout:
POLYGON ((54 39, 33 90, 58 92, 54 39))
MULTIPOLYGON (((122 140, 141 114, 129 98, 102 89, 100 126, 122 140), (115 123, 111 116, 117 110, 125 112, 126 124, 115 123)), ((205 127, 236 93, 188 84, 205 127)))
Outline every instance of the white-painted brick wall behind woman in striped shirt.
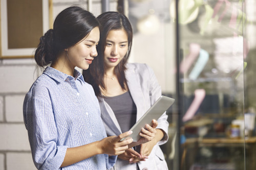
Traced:
MULTIPOLYGON (((95 16, 101 13, 100 2, 93 0, 95 16)), ((116 11, 117 1, 110 2, 110 9, 116 11)), ((87 0, 53 0, 53 18, 73 4, 87 9, 87 0)), ((0 59, 0 170, 36 169, 23 123, 23 101, 40 74, 33 58, 0 59)))

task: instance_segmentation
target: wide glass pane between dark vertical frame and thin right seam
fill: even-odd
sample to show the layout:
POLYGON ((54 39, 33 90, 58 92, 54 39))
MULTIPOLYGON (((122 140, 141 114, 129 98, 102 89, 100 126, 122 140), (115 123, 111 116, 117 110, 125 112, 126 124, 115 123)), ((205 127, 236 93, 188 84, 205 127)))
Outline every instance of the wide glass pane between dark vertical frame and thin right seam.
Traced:
POLYGON ((245 169, 244 3, 178 3, 180 169, 245 169))

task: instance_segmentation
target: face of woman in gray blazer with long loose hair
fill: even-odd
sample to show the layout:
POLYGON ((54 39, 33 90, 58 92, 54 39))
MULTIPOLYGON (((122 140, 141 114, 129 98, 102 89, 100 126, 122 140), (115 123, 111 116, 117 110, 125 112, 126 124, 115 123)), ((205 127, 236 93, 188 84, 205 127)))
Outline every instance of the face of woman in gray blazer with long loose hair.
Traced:
POLYGON ((106 37, 104 63, 106 68, 117 66, 128 50, 128 36, 124 29, 111 30, 106 37))

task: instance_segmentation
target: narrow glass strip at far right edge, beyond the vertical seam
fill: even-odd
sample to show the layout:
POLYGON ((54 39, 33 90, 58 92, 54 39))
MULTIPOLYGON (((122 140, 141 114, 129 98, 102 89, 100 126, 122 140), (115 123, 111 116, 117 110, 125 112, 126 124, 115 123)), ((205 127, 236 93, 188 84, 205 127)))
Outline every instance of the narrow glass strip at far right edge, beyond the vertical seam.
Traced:
POLYGON ((255 50, 256 50, 256 3, 253 0, 244 2, 244 61, 247 64, 244 70, 244 91, 245 91, 245 142, 246 169, 255 169, 255 50))

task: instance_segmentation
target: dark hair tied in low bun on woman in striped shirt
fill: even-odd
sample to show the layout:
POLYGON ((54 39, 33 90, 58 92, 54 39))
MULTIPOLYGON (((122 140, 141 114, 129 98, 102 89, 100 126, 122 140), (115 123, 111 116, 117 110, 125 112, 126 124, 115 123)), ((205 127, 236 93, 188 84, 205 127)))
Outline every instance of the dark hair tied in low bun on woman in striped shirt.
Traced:
POLYGON ((59 53, 75 45, 95 27, 99 27, 96 17, 80 8, 69 7, 55 18, 53 29, 40 38, 35 51, 35 61, 40 67, 47 66, 57 59, 59 53))

